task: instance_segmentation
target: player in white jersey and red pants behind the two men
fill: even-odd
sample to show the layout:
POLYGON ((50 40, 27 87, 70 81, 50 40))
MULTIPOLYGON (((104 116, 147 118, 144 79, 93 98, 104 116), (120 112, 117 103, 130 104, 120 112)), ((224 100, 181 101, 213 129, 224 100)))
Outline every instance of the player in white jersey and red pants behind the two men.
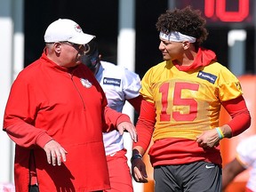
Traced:
MULTIPOLYGON (((82 62, 90 68, 100 83, 108 100, 108 107, 122 112, 127 100, 137 113, 140 113, 140 76, 113 63, 100 60, 98 44, 90 43, 90 51, 82 57, 82 62)), ((111 189, 108 192, 132 192, 132 176, 127 164, 124 137, 113 130, 103 133, 107 156, 111 189)))

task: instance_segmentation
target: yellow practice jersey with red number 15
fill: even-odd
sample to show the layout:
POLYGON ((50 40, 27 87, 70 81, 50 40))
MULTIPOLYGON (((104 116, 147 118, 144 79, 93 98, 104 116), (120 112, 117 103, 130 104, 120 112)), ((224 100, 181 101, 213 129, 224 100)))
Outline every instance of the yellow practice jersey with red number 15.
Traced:
POLYGON ((242 95, 236 76, 218 62, 185 72, 164 61, 148 70, 141 85, 141 95, 156 108, 154 140, 196 140, 219 126, 222 101, 242 95))

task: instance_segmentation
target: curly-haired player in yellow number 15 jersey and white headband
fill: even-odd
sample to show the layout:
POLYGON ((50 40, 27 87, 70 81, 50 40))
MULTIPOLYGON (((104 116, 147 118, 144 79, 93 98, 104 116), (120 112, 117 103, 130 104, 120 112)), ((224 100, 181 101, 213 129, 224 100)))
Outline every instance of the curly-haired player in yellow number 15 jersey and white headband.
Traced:
POLYGON ((244 132, 251 116, 240 83, 200 46, 208 33, 199 11, 166 11, 156 22, 164 61, 141 81, 143 96, 132 150, 132 176, 147 182, 148 148, 156 192, 221 191, 220 140, 244 132), (220 106, 232 120, 219 125, 220 106))

